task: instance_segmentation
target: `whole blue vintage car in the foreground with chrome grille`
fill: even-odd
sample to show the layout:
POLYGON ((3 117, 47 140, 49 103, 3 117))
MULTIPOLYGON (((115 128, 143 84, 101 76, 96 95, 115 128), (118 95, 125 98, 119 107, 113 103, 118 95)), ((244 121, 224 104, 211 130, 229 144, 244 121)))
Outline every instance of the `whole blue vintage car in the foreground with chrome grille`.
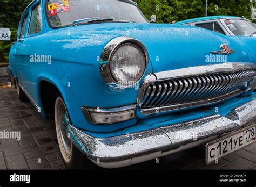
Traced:
POLYGON ((19 99, 55 118, 68 168, 206 143, 212 163, 255 142, 256 38, 149 22, 125 0, 38 0, 24 11, 10 72, 19 99))

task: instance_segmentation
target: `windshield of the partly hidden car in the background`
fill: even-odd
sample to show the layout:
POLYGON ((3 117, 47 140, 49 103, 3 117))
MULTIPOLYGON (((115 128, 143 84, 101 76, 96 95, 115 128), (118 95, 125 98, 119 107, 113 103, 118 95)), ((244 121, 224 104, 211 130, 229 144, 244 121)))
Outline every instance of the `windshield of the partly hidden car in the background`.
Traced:
POLYGON ((225 24, 234 35, 251 35, 255 34, 256 26, 251 21, 242 19, 227 19, 225 24))

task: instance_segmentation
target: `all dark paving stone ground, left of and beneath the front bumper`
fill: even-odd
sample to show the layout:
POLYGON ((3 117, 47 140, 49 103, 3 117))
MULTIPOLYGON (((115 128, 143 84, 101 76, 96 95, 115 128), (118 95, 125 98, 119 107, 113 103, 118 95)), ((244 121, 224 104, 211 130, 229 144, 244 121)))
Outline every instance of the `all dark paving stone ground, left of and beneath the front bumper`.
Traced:
MULTIPOLYGON (((21 132, 21 140, 0 139, 0 169, 65 169, 52 119, 43 119, 14 88, 0 88, 0 131, 21 132)), ((123 169, 256 169, 256 143, 207 166, 204 147, 123 169)))

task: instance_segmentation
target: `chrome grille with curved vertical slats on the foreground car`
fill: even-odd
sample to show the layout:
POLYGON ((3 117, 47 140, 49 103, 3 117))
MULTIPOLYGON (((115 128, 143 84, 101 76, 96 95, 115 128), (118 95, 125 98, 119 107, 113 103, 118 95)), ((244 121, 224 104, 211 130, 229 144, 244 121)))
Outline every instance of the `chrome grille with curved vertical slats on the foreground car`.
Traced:
POLYGON ((241 94, 241 88, 254 76, 256 70, 242 70, 235 73, 213 73, 155 82, 145 90, 142 109, 164 106, 175 106, 175 109, 179 109, 189 104, 201 105, 212 102, 213 98, 224 100, 241 94))

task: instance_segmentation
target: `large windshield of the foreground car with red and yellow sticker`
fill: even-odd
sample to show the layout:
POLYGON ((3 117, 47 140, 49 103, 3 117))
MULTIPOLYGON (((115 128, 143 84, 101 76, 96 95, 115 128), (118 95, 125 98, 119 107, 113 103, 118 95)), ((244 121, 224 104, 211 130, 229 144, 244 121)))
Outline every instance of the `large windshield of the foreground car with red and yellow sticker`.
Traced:
POLYGON ((137 6, 124 1, 49 0, 47 5, 49 24, 52 27, 70 26, 73 21, 85 18, 112 18, 113 20, 107 21, 148 23, 137 6))

